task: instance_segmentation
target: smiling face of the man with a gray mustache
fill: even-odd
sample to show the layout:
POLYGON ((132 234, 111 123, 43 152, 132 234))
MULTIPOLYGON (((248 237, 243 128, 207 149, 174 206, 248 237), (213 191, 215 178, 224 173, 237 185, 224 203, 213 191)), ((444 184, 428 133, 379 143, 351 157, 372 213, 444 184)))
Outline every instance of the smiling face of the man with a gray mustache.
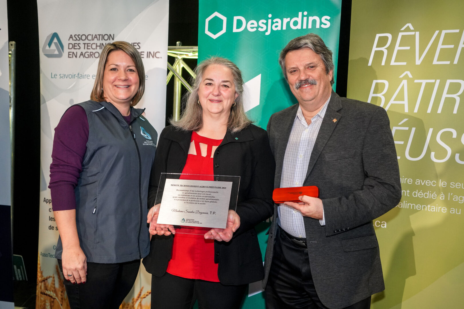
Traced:
POLYGON ((316 111, 329 99, 333 71, 326 74, 321 57, 309 47, 289 51, 285 70, 290 90, 302 108, 316 111))

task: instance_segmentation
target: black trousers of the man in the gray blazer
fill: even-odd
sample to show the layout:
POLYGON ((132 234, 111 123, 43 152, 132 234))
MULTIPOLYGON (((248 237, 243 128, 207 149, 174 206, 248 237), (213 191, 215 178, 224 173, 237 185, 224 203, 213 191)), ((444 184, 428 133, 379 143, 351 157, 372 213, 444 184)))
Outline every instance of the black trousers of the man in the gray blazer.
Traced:
MULTIPOLYGON (((266 308, 329 309, 317 296, 309 268, 308 249, 296 245, 280 227, 276 238, 271 271, 264 290, 266 308)), ((371 296, 345 309, 369 309, 370 306, 371 296)))

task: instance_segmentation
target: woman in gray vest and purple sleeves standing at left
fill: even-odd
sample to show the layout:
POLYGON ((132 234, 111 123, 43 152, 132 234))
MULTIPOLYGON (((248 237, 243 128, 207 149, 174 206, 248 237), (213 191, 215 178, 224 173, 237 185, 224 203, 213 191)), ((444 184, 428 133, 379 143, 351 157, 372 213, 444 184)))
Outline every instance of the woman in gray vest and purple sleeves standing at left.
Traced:
POLYGON ((71 309, 119 308, 150 248, 147 192, 157 133, 134 106, 145 89, 142 59, 127 42, 100 55, 90 101, 55 128, 50 186, 55 257, 71 309))

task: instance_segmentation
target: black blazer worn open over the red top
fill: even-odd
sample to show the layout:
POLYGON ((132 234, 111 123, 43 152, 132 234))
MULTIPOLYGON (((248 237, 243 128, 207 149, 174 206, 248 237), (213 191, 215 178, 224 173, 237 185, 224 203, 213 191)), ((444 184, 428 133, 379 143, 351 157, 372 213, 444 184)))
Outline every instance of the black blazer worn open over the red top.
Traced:
MULTIPOLYGON (((180 131, 173 126, 161 132, 151 172, 149 208, 155 205, 161 173, 182 172, 191 137, 191 131, 180 131)), ((266 131, 254 125, 238 133, 227 131, 214 153, 213 164, 216 175, 240 176, 237 202, 240 227, 229 242, 214 241, 219 281, 226 285, 259 281, 264 277, 263 258, 254 227, 269 218, 274 207, 271 197, 275 163, 266 131)), ((164 275, 171 259, 172 244, 172 234, 152 237, 150 253, 143 259, 149 273, 158 277, 164 275)))

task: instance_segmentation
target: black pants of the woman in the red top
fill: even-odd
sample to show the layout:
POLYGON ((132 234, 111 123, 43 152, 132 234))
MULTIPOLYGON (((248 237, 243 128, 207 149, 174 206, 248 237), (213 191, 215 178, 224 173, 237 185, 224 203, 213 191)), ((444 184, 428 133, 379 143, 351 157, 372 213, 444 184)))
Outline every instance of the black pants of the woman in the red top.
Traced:
POLYGON ((151 276, 151 308, 191 309, 198 300, 200 309, 238 309, 247 286, 223 285, 169 273, 162 277, 151 276))

